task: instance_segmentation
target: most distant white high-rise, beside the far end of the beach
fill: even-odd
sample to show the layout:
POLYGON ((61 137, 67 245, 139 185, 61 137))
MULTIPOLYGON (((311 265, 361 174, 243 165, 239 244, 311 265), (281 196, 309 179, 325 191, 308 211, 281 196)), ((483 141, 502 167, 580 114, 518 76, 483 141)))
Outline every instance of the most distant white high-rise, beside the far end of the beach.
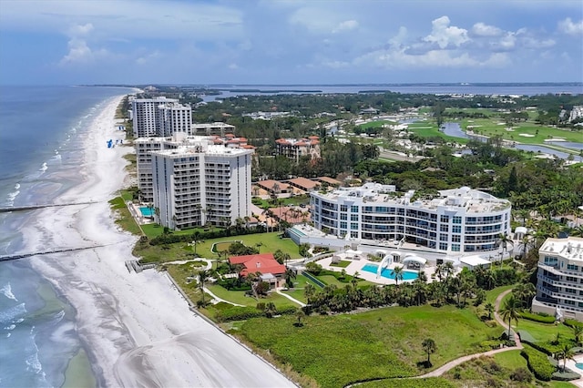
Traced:
POLYGON ((136 98, 132 101, 134 137, 171 136, 174 132, 189 134, 191 108, 167 97, 136 98))

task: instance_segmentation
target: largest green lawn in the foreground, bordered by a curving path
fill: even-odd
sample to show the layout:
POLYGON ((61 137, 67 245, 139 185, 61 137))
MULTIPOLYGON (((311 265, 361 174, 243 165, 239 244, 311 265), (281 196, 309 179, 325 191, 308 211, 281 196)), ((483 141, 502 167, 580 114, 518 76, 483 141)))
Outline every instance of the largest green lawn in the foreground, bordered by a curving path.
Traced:
POLYGON ((294 327, 293 322, 294 317, 287 316, 251 319, 241 325, 240 334, 322 387, 423 373, 416 365, 424 361, 421 343, 425 338, 436 342, 432 362, 437 367, 483 350, 479 343, 499 334, 499 329, 488 328, 471 309, 453 306, 312 315, 302 327, 294 327))

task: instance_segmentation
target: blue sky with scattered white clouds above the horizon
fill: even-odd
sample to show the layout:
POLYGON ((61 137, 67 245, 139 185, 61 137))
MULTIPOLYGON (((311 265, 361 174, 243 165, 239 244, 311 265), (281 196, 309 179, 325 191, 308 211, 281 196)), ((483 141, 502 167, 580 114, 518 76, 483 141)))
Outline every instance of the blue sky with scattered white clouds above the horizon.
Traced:
POLYGON ((0 0, 0 84, 562 81, 581 0, 0 0))

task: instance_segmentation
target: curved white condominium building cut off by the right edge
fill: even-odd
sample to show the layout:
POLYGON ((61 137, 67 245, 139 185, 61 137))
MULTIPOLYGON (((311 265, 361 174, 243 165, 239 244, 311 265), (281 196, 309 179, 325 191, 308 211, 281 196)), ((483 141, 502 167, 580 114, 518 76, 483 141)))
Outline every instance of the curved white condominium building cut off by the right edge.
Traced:
POLYGON ((532 311, 583 321, 583 238, 547 239, 538 249, 532 311))

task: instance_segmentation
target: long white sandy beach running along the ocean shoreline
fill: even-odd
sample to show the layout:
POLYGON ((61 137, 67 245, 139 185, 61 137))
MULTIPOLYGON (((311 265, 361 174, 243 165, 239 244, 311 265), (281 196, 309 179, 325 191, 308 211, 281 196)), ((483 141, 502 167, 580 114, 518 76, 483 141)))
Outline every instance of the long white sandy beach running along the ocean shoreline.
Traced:
POLYGON ((280 373, 192 311, 166 274, 128 273, 135 236, 118 230, 108 199, 127 179, 122 156, 129 147, 107 148, 121 138, 113 119, 121 97, 97 116, 87 137, 84 183, 60 202, 91 205, 38 210, 24 230, 26 251, 79 250, 34 257, 37 271, 77 309, 77 331, 99 386, 280 387, 293 386, 280 373))

